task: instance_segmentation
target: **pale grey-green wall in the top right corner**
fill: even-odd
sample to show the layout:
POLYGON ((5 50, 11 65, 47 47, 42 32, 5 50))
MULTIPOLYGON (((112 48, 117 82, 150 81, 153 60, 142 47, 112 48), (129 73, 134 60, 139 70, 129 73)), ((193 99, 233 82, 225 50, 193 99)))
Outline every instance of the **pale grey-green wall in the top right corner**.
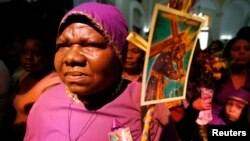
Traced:
POLYGON ((211 17, 210 40, 234 37, 250 23, 250 0, 199 0, 197 4, 200 12, 211 17))

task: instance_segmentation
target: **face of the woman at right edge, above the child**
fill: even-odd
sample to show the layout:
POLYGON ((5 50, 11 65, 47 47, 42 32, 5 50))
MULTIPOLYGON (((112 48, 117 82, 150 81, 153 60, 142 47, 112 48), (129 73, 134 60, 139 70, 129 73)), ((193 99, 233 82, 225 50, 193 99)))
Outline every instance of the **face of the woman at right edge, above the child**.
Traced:
POLYGON ((230 57, 235 64, 248 64, 250 62, 250 43, 243 39, 236 41, 230 50, 230 57))

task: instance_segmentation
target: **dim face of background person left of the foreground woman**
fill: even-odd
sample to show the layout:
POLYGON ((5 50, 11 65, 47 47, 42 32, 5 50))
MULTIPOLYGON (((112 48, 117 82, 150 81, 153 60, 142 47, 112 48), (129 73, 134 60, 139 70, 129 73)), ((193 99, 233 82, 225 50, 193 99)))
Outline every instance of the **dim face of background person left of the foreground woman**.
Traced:
POLYGON ((27 39, 21 48, 21 65, 27 72, 39 73, 49 64, 40 41, 27 39))

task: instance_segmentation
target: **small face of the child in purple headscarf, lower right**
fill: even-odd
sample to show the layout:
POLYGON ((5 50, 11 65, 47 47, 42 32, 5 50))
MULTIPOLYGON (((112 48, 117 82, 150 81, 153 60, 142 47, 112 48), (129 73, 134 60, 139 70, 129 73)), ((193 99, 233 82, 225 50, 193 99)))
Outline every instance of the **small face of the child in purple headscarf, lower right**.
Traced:
POLYGON ((241 115, 245 105, 236 100, 228 100, 226 104, 226 116, 229 121, 236 122, 241 115))

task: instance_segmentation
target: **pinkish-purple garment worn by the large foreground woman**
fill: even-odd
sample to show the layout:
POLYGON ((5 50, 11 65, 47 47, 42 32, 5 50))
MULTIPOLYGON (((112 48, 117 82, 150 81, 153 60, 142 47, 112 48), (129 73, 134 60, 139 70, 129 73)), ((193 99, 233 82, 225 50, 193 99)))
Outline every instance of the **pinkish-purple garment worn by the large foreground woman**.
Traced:
MULTIPOLYGON (((133 141, 139 141, 142 133, 140 93, 141 84, 132 82, 112 102, 89 111, 82 104, 72 103, 63 84, 57 85, 42 94, 33 105, 24 140, 68 141, 70 134, 71 140, 79 137, 80 141, 108 141, 108 133, 117 119, 125 128, 129 127, 133 141)), ((152 141, 159 141, 161 133, 160 124, 154 122, 152 141)))

